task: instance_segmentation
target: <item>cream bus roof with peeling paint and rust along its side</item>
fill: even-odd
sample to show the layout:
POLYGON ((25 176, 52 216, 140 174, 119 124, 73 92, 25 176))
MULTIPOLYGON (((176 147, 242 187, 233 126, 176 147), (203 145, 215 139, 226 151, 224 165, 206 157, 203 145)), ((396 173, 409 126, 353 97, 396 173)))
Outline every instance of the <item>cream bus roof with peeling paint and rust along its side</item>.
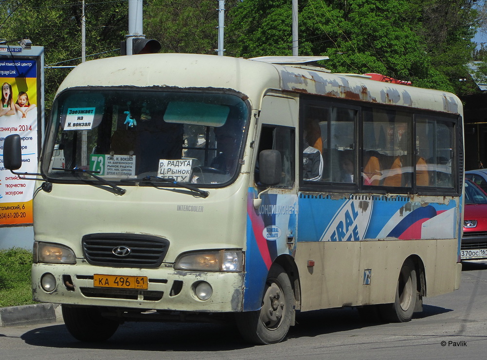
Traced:
POLYGON ((87 61, 62 82, 69 87, 133 86, 181 89, 232 89, 248 96, 255 108, 269 89, 327 95, 381 104, 459 114, 453 94, 250 59, 195 54, 146 54, 87 61))

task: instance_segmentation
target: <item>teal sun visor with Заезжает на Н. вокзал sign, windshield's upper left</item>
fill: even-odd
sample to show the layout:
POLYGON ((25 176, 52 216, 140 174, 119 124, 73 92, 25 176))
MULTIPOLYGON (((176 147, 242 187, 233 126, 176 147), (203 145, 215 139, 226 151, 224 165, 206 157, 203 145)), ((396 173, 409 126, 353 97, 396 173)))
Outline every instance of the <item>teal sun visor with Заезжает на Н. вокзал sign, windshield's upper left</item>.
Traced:
POLYGON ((101 94, 76 93, 64 100, 61 114, 63 130, 90 130, 100 125, 105 108, 101 94))

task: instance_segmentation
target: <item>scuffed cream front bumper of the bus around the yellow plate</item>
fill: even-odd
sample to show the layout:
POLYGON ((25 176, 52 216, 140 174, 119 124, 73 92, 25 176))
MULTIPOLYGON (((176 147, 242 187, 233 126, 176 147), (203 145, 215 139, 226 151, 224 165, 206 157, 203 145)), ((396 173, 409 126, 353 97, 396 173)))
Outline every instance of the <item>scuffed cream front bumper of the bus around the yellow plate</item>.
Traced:
MULTIPOLYGON (((78 260, 79 262, 79 260, 78 260)), ((172 311, 239 312, 243 308, 243 273, 199 272, 174 270, 170 265, 157 269, 113 268, 76 265, 32 265, 33 299, 43 303, 112 306, 172 311), (40 280, 53 274, 56 287, 45 291, 40 280), (147 276, 148 289, 95 287, 94 274, 116 276, 147 276), (196 284, 207 282, 212 296, 199 300, 196 284)))

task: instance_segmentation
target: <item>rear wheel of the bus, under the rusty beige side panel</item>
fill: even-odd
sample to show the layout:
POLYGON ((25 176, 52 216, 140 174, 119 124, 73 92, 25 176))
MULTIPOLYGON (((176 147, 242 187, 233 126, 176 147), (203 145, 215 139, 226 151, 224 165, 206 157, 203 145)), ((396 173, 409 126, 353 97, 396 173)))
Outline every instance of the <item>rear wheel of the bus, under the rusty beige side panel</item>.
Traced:
POLYGON ((381 315, 384 320, 390 322, 411 321, 417 298, 416 283, 414 263, 407 259, 399 273, 394 303, 381 305, 381 315))

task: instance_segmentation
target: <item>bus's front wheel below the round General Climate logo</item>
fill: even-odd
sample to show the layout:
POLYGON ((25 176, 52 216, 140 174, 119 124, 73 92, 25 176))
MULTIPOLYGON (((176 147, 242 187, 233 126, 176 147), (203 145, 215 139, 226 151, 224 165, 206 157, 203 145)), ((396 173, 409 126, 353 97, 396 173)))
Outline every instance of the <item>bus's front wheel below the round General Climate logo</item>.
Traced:
POLYGON ((262 308, 236 314, 237 327, 245 341, 275 344, 282 341, 294 319, 294 293, 287 273, 272 265, 265 281, 262 308))

